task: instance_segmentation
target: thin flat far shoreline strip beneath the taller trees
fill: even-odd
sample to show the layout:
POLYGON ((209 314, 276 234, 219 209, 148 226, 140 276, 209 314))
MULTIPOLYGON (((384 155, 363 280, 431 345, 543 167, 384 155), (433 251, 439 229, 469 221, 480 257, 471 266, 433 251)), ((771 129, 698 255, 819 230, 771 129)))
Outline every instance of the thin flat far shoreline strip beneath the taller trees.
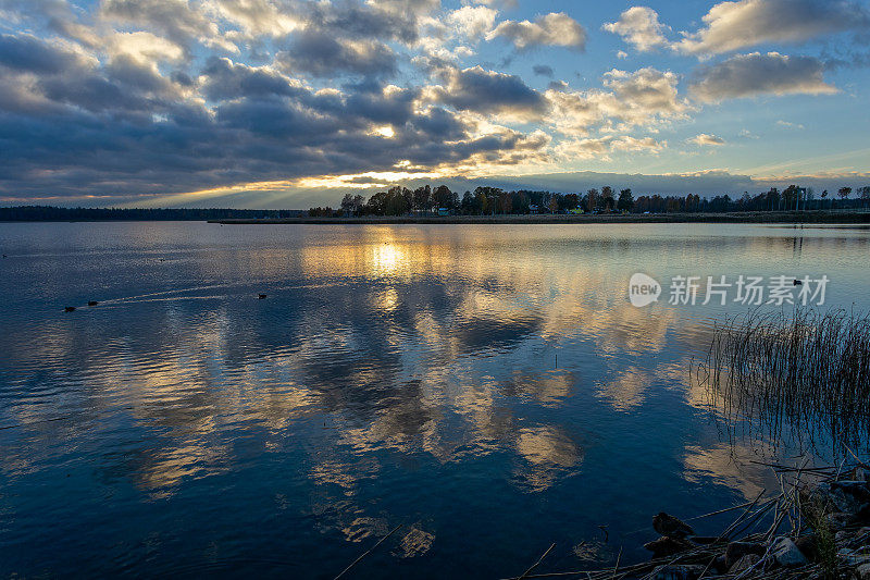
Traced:
POLYGON ((586 223, 758 223, 758 224, 870 224, 870 211, 770 211, 733 213, 658 213, 626 215, 366 215, 361 218, 282 218, 208 220, 222 225, 276 224, 586 224, 586 223))

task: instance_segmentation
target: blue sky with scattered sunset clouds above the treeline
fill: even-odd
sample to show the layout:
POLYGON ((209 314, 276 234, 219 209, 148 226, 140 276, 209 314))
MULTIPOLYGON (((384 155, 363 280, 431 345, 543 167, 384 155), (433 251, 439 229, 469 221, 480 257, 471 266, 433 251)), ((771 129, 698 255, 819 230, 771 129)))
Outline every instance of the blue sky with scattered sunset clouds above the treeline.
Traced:
POLYGON ((0 0, 0 203, 870 185, 870 2, 0 0))

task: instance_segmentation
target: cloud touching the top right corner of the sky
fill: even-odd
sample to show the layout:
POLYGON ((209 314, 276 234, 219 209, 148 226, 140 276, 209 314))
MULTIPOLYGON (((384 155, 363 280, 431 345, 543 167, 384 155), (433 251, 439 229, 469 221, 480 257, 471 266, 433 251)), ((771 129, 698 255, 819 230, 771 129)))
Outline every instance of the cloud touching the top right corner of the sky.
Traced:
POLYGON ((716 4, 703 20, 705 27, 683 33, 675 50, 719 54, 769 42, 801 44, 867 29, 870 12, 849 0, 739 0, 716 4))

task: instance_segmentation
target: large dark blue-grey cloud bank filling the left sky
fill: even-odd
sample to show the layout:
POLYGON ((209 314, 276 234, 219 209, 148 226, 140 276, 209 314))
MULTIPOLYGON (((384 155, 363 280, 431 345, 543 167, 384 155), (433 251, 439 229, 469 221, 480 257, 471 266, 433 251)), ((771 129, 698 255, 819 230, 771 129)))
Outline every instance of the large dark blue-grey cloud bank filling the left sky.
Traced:
POLYGON ((192 74, 161 74, 129 54, 100 63, 21 36, 2 39, 0 66, 2 197, 171 194, 394 171, 400 161, 513 163, 545 145, 508 129, 472 137, 456 113, 418 110, 420 89, 362 83, 316 90, 225 58, 192 74), (383 126, 390 137, 374 131, 383 126))

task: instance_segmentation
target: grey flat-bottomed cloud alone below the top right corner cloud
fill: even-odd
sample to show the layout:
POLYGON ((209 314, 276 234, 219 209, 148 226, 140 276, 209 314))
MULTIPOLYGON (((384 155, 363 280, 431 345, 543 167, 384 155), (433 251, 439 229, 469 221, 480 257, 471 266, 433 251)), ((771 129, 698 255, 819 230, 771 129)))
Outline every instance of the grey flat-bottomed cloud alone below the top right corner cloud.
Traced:
POLYGON ((737 54, 712 66, 703 66, 691 85, 703 102, 759 95, 830 95, 836 87, 823 78, 822 63, 811 57, 779 52, 737 54))

